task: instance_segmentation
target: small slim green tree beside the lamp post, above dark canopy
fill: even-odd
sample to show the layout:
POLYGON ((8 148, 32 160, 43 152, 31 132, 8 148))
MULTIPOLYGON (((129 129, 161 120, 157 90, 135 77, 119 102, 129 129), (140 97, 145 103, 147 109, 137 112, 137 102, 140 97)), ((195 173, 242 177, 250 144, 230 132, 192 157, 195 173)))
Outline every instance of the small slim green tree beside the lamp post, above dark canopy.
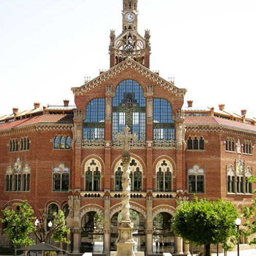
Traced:
MULTIPOLYGON (((53 220, 53 233, 52 240, 54 242, 60 243, 60 248, 62 249, 63 243, 70 243, 70 240, 67 240, 66 235, 70 233, 70 229, 66 226, 65 214, 62 210, 59 210, 58 214, 55 214, 53 220)), ((62 255, 62 251, 61 251, 62 255)))

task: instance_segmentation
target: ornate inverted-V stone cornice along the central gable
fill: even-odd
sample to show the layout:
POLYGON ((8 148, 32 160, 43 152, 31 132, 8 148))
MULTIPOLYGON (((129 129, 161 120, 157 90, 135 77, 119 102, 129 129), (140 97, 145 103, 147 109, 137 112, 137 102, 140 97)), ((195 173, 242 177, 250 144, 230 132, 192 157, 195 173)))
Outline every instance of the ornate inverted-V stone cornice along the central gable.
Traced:
POLYGON ((74 95, 84 95, 85 93, 91 91, 100 84, 108 81, 110 78, 116 76, 117 74, 123 72, 125 69, 133 69, 137 71, 142 76, 148 78, 149 80, 155 82, 159 86, 163 87, 164 89, 168 90, 169 92, 173 93, 176 96, 184 97, 186 93, 186 89, 179 89, 174 86, 173 83, 167 82, 163 78, 161 78, 156 73, 150 71, 149 69, 145 68, 144 66, 140 65, 137 61, 133 60, 132 58, 126 58, 124 61, 120 62, 115 67, 111 68, 110 70, 102 73, 95 79, 83 84, 81 87, 73 87, 71 90, 73 91, 74 95))

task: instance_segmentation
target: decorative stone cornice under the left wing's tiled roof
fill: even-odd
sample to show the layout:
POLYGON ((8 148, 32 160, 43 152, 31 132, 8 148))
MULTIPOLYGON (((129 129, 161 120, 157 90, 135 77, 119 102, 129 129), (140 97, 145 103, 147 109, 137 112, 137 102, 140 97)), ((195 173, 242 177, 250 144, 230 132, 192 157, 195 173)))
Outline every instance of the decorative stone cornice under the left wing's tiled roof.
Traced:
POLYGON ((12 129, 7 129, 0 131, 0 137, 13 136, 23 133, 31 133, 36 131, 58 131, 67 132, 71 131, 73 124, 53 124, 53 123, 41 123, 41 124, 31 124, 23 127, 16 127, 12 129))

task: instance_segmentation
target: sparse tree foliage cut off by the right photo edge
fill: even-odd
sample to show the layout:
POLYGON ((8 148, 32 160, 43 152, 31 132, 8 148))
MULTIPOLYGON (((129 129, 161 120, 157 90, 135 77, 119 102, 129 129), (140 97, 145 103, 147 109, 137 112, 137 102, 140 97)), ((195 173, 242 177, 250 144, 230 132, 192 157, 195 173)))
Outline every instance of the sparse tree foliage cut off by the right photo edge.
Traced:
MULTIPOLYGON (((247 178, 249 183, 256 183, 256 177, 254 175, 247 178)), ((256 194, 256 189, 253 190, 253 194, 256 194)), ((243 226, 246 227, 246 230, 243 230, 243 234, 246 237, 249 237, 251 234, 256 233, 256 220, 255 217, 256 210, 256 198, 252 199, 250 206, 246 206, 243 209, 243 219, 247 220, 243 226), (251 220, 249 220, 251 219, 251 220)), ((256 238, 253 238, 249 241, 249 244, 256 244, 256 238)))

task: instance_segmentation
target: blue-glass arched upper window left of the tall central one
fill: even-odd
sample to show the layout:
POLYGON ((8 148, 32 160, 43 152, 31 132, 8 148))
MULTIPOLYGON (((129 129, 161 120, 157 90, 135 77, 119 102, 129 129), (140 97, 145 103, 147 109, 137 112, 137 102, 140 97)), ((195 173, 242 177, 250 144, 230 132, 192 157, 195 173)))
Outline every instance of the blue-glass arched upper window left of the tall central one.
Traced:
POLYGON ((86 108, 86 120, 83 121, 83 139, 104 139, 105 99, 91 100, 86 108))

